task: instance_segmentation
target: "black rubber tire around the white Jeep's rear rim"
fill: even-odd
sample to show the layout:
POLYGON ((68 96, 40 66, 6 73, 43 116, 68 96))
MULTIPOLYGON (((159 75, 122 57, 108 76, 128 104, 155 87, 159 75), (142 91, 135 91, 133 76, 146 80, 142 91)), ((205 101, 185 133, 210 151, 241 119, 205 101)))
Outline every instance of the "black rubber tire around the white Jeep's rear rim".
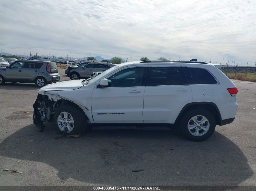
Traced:
POLYGON ((182 118, 180 120, 180 128, 181 128, 182 132, 185 134, 185 137, 191 141, 204 141, 204 140, 208 139, 213 134, 213 132, 215 130, 215 126, 216 126, 216 121, 215 121, 214 116, 208 110, 205 110, 205 109, 194 109, 194 110, 188 111, 187 113, 185 113, 182 116, 182 118), (209 126, 208 131, 204 131, 200 122, 198 124, 198 122, 194 123, 193 120, 190 120, 194 116, 198 116, 197 119, 199 119, 199 121, 201 119, 200 116, 204 116, 208 119, 209 123, 205 122, 203 124, 203 125, 208 124, 208 126, 209 126), (195 126, 195 128, 188 130, 188 123, 190 123, 190 124, 194 123, 193 126, 195 126), (196 131, 198 131, 199 135, 198 136, 192 135, 192 133, 195 133, 196 131), (202 135, 200 135, 200 133, 202 135))

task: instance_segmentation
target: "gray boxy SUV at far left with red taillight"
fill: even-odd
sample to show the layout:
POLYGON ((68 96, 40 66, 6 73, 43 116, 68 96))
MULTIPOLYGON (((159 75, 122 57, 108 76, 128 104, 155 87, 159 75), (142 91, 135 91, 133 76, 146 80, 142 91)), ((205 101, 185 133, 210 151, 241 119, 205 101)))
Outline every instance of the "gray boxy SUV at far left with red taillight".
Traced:
POLYGON ((38 87, 60 81, 55 62, 18 60, 0 68, 0 85, 5 82, 35 83, 38 87))

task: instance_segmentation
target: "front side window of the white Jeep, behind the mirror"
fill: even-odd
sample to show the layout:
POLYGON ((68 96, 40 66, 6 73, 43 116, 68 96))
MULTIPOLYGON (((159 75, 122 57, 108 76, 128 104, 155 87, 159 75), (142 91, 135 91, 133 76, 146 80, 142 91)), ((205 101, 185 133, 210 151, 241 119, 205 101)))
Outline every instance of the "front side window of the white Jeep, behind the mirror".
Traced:
POLYGON ((127 68, 108 78, 110 87, 144 86, 143 76, 145 67, 127 68))

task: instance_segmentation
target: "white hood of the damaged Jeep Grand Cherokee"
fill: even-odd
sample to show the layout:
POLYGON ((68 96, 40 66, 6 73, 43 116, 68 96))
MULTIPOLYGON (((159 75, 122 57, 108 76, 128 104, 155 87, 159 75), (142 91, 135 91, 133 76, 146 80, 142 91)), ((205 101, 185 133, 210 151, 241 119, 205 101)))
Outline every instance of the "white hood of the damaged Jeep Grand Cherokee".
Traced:
POLYGON ((38 94, 44 95, 46 91, 62 91, 62 90, 75 90, 81 88, 83 84, 82 80, 72 80, 72 81, 61 81, 53 84, 46 85, 39 89, 38 94))

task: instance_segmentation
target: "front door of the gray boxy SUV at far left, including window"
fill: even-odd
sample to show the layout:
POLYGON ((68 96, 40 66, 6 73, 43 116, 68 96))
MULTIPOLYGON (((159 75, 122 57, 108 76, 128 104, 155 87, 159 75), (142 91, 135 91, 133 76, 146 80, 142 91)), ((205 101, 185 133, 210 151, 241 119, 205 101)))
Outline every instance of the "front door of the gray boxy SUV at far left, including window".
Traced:
POLYGON ((6 68, 5 78, 6 81, 23 82, 23 67, 24 62, 14 62, 10 67, 6 68))

